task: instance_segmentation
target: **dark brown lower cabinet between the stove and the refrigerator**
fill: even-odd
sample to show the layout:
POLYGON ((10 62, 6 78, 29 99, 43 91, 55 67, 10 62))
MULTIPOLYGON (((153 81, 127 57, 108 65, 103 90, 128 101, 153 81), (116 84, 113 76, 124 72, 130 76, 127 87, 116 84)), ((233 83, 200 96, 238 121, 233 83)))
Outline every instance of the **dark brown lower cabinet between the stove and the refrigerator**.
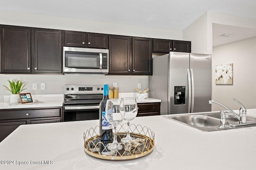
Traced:
POLYGON ((161 103, 138 103, 137 116, 153 116, 160 115, 161 103))

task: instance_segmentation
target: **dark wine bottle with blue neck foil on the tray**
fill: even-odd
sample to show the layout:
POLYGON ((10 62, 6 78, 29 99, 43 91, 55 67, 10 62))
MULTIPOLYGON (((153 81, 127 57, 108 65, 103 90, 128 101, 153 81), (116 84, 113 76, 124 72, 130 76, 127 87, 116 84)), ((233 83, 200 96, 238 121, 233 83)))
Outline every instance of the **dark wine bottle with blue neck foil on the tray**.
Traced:
POLYGON ((108 123, 105 116, 106 102, 108 97, 108 84, 104 84, 103 87, 103 99, 100 102, 100 140, 111 141, 113 138, 112 125, 108 123))

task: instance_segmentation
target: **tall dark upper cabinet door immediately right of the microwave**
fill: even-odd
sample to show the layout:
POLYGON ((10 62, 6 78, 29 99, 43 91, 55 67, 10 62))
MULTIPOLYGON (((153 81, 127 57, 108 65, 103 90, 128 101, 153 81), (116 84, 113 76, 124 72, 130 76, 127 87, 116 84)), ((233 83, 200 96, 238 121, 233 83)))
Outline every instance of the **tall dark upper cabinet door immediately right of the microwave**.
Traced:
POLYGON ((132 40, 125 36, 109 36, 109 73, 132 74, 132 40))

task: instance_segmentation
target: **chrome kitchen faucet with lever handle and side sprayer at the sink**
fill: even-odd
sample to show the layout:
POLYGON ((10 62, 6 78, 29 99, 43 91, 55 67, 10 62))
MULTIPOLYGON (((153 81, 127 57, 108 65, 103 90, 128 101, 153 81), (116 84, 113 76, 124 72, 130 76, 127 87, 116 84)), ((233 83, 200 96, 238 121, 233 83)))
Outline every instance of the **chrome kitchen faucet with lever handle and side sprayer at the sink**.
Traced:
MULTIPOLYGON (((238 102, 240 105, 241 105, 241 108, 239 110, 239 113, 240 115, 237 115, 234 111, 232 111, 231 109, 229 109, 228 107, 226 107, 225 105, 217 102, 217 101, 213 101, 213 100, 210 100, 209 103, 212 104, 212 103, 216 103, 222 107, 224 107, 226 110, 230 111, 238 120, 239 120, 239 123, 246 123, 246 109, 244 107, 244 105, 242 105, 242 103, 240 103, 238 100, 236 100, 235 98, 233 98, 234 101, 238 102)), ((225 117, 225 114, 224 112, 221 112, 221 116, 225 117)), ((225 118, 224 118, 225 119, 225 118)), ((222 118, 223 120, 223 118, 222 118)), ((221 120, 221 125, 223 123, 223 121, 221 120)), ((225 123, 224 123, 224 126, 225 126, 225 123)))

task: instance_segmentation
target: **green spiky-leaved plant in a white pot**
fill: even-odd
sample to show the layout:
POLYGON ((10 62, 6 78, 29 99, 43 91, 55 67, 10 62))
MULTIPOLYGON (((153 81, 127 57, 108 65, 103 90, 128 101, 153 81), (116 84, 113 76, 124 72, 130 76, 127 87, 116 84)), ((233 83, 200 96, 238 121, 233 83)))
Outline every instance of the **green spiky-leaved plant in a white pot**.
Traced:
POLYGON ((20 103, 21 101, 20 101, 19 93, 22 92, 23 90, 25 90, 24 86, 27 83, 22 82, 17 79, 13 79, 12 81, 8 80, 8 82, 10 83, 10 88, 8 88, 5 85, 3 85, 3 86, 6 88, 6 90, 8 90, 12 93, 10 103, 20 103))

